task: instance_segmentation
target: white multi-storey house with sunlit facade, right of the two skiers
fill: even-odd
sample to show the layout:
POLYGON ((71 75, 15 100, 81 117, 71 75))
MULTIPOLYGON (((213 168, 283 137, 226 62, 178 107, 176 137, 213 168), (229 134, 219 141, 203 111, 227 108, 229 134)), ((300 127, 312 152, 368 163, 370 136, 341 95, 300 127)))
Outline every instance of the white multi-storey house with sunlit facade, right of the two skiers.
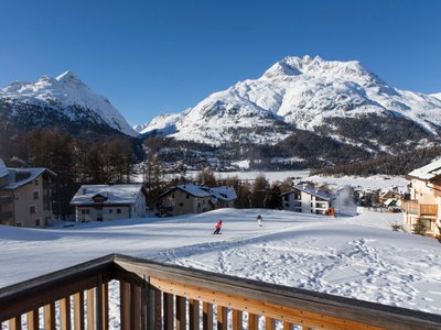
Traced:
POLYGON ((294 186, 282 194, 283 210, 325 215, 331 208, 331 196, 306 186, 294 186))

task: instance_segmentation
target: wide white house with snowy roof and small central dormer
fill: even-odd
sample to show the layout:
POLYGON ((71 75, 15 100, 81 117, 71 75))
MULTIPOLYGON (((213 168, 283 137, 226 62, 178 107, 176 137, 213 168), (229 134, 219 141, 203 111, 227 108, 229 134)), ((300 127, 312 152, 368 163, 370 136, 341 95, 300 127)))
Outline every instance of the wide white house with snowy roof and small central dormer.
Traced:
POLYGON ((147 191, 142 185, 83 185, 71 206, 77 222, 141 218, 147 191))

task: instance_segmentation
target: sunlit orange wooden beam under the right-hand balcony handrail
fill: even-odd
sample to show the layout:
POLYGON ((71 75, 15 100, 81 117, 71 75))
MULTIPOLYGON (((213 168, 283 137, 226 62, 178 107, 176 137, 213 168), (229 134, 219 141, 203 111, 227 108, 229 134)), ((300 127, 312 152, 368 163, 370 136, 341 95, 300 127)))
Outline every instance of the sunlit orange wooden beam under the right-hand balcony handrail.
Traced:
POLYGON ((173 280, 162 280, 150 277, 151 285, 158 289, 186 297, 187 299, 200 299, 211 301, 212 304, 226 306, 232 309, 248 311, 273 319, 289 321, 300 326, 308 324, 315 328, 330 329, 381 329, 365 323, 327 317, 321 314, 308 312, 301 309, 289 308, 282 305, 265 302, 261 300, 246 299, 241 296, 223 294, 215 290, 208 290, 202 287, 185 285, 173 280))

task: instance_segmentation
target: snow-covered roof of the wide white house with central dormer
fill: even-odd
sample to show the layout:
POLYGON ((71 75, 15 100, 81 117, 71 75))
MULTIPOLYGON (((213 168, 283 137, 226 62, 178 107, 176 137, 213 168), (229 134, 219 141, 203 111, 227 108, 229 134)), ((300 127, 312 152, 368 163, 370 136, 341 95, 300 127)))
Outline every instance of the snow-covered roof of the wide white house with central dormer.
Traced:
POLYGON ((103 196, 104 205, 136 204, 142 185, 83 185, 71 200, 71 205, 93 205, 94 197, 103 196))

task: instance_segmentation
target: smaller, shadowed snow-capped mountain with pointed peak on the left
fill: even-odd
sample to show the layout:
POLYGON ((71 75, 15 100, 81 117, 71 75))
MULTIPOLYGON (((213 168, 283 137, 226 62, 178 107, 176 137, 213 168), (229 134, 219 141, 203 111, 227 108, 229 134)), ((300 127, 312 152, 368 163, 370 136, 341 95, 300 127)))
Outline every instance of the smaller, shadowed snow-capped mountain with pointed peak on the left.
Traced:
POLYGON ((110 127, 127 135, 138 133, 105 97, 96 95, 72 72, 35 82, 14 81, 0 89, 0 112, 28 127, 74 123, 110 127))

